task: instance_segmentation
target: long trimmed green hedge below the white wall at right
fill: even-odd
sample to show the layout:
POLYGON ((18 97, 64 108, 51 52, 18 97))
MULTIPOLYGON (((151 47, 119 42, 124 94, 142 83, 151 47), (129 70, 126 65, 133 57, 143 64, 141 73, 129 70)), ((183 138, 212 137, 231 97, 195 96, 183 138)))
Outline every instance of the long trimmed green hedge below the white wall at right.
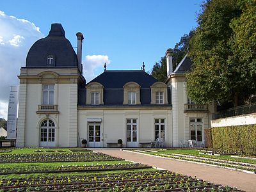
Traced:
POLYGON ((256 155, 256 124, 206 129, 205 140, 208 147, 256 155), (212 141, 211 141, 212 140, 212 141))

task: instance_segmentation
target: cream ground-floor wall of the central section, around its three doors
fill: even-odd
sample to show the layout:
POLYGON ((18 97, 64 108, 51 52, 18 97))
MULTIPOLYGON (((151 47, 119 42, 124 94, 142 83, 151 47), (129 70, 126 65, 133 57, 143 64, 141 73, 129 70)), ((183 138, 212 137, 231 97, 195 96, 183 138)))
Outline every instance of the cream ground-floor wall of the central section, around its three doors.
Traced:
MULTIPOLYGON (((165 120, 165 146, 172 146, 172 120, 171 109, 102 109, 102 110, 82 110, 78 111, 78 131, 80 141, 88 141, 88 118, 101 118, 100 135, 101 147, 107 147, 107 143, 117 143, 118 139, 123 140, 123 147, 126 147, 126 122, 127 118, 137 120, 138 143, 150 142, 154 140, 155 118, 165 120)), ((140 147, 140 145, 138 145, 140 147)))

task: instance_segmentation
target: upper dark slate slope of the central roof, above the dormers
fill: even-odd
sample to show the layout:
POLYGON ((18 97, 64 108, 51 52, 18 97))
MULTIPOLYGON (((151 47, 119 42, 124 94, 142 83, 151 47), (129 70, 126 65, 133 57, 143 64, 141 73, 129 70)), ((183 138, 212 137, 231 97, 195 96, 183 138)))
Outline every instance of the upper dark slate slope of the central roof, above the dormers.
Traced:
POLYGON ((104 88, 123 88, 128 82, 136 82, 140 88, 150 88, 157 79, 143 70, 106 70, 91 82, 98 82, 104 88))

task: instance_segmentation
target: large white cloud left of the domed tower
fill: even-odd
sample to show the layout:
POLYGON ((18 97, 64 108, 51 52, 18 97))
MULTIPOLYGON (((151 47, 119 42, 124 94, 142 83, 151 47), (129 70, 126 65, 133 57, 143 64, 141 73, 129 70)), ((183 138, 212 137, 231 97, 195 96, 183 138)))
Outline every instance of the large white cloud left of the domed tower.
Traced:
POLYGON ((0 118, 7 117, 10 85, 19 84, 19 70, 33 43, 44 35, 32 22, 0 11, 0 118))

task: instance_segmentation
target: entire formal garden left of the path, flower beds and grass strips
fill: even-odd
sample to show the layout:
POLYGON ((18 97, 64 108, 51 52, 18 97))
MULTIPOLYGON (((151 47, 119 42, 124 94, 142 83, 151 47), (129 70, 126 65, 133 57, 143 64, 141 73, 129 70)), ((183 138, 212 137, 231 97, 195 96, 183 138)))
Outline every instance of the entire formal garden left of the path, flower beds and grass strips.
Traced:
MULTIPOLYGON (((22 149, 25 153, 17 149, 13 151, 0 154, 0 192, 239 191, 83 148, 22 149)), ((156 151, 168 150, 153 152, 156 151)))

